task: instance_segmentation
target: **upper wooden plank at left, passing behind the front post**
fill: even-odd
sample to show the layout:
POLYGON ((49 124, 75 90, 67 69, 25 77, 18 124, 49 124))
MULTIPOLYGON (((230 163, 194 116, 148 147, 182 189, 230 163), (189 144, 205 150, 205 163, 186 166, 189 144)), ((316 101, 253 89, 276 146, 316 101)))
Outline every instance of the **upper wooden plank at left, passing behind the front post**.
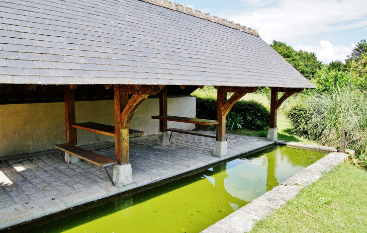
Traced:
MULTIPOLYGON (((115 126, 112 125, 105 125, 94 122, 85 122, 85 123, 71 124, 71 127, 115 137, 115 126)), ((144 135, 143 131, 129 129, 129 137, 140 137, 143 135, 144 135)))

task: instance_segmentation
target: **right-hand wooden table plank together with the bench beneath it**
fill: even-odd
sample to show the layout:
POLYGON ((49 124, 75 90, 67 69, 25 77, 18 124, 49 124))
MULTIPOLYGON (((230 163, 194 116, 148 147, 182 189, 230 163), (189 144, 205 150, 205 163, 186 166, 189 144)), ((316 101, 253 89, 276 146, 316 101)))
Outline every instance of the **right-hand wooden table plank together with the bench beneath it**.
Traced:
MULTIPOLYGON (((152 118, 153 119, 158 119, 158 120, 176 121, 176 122, 184 122, 184 123, 199 124, 199 125, 217 125, 218 126, 218 124, 219 124, 219 121, 216 121, 216 120, 207 120, 207 119, 190 118, 190 117, 160 115, 160 116, 152 116, 152 118)), ((185 133, 185 134, 191 134, 191 135, 203 136, 203 137, 217 138, 217 134, 197 132, 197 131, 186 130, 186 129, 169 128, 169 129, 167 129, 167 131, 171 132, 171 135, 169 136, 169 141, 171 140, 172 132, 185 133)), ((218 131, 218 129, 217 129, 217 131, 218 131)))

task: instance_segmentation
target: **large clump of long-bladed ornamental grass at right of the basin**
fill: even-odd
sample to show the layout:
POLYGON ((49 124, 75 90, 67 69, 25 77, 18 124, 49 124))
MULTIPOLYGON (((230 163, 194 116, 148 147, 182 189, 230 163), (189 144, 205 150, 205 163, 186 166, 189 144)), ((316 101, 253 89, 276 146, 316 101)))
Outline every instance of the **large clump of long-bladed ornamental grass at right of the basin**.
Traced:
POLYGON ((348 148, 359 155, 367 154, 366 95, 359 90, 340 89, 314 94, 302 105, 294 106, 288 117, 297 135, 317 140, 322 145, 341 145, 341 129, 346 129, 348 148))

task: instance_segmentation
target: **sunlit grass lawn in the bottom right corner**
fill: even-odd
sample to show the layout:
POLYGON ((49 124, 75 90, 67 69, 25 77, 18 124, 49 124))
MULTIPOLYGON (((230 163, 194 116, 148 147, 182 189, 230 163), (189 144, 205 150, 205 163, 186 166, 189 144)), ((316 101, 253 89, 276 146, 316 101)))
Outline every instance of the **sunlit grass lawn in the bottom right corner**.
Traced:
POLYGON ((251 232, 367 232, 367 172, 334 167, 251 232))

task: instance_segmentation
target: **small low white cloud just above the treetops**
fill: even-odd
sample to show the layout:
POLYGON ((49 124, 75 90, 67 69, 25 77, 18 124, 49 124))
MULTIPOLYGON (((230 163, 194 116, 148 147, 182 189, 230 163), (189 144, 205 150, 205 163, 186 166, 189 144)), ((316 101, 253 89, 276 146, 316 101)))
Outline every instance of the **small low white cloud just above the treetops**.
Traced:
POLYGON ((347 55, 351 54, 355 44, 351 44, 350 47, 339 45, 333 46, 330 41, 321 40, 320 46, 308 46, 298 44, 293 46, 296 50, 304 50, 308 52, 314 52, 317 59, 324 64, 328 64, 333 60, 341 60, 344 62, 347 55))

